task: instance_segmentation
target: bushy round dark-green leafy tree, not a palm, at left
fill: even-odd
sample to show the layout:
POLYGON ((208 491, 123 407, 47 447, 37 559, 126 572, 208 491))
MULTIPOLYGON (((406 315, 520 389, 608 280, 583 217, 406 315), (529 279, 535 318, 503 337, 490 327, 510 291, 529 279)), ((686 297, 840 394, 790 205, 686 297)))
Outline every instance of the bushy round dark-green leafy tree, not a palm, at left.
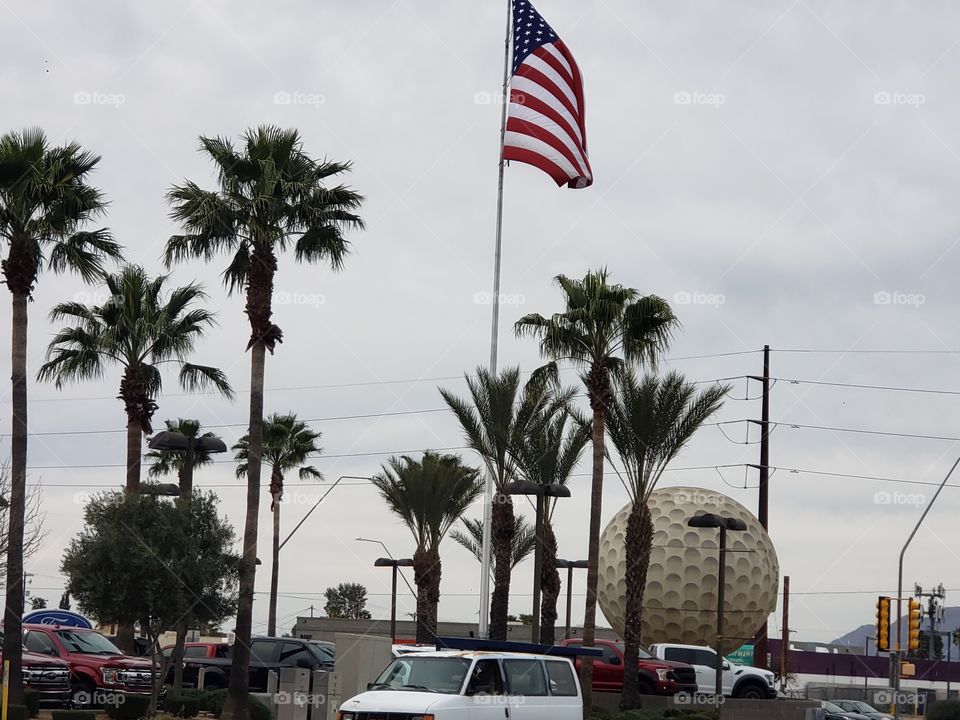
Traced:
POLYGON ((154 700, 169 669, 157 672, 159 636, 184 614, 221 622, 236 608, 239 558, 216 496, 190 503, 104 493, 87 503, 85 527, 67 548, 67 591, 100 622, 140 623, 152 643, 154 700))

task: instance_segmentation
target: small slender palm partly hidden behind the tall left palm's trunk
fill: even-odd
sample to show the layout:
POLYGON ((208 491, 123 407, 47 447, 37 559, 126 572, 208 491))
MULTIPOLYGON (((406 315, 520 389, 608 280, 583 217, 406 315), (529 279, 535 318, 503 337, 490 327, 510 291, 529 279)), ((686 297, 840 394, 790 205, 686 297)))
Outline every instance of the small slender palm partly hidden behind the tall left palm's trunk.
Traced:
MULTIPOLYGON (((270 466, 270 511, 273 513, 273 568, 270 575, 270 610, 267 635, 277 634, 277 586, 280 582, 280 502, 283 500, 283 476, 296 470, 301 480, 323 480, 323 475, 307 458, 323 452, 317 445, 320 432, 297 420, 294 413, 271 415, 263 424, 263 462, 270 466)), ((250 466, 250 436, 244 435, 233 446, 236 451, 237 477, 243 477, 250 466)))

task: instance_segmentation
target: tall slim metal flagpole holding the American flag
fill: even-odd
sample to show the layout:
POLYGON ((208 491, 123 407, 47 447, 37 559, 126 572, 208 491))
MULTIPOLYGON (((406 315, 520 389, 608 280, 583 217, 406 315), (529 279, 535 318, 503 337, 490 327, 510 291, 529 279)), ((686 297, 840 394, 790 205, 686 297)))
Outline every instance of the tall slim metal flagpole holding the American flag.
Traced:
MULTIPOLYGON (((503 40, 503 91, 500 95, 500 168, 497 179, 497 240, 493 250, 493 308, 490 318, 490 373, 497 373, 497 340, 500 331, 500 248, 503 237, 503 145, 507 134, 507 85, 510 83, 510 25, 513 0, 507 0, 507 32, 503 40)), ((483 539, 480 560, 480 637, 488 637, 490 624, 490 526, 493 523, 493 476, 487 473, 483 503, 483 539)))

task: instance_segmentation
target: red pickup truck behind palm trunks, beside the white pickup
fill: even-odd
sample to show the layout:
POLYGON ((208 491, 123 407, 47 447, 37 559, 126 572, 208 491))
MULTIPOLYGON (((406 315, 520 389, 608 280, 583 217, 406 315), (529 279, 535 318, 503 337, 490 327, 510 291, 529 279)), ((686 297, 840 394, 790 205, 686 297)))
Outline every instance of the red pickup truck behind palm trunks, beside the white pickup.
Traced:
MULTIPOLYGON (((582 647, 581 638, 570 638, 561 643, 565 647, 582 647)), ((593 661, 593 689, 601 692, 623 690, 623 643, 614 640, 595 640, 594 647, 603 651, 603 657, 593 661)), ((580 658, 576 660, 580 669, 580 658)), ((640 693, 642 695, 676 695, 697 692, 697 671, 686 663, 660 660, 640 648, 640 693)))

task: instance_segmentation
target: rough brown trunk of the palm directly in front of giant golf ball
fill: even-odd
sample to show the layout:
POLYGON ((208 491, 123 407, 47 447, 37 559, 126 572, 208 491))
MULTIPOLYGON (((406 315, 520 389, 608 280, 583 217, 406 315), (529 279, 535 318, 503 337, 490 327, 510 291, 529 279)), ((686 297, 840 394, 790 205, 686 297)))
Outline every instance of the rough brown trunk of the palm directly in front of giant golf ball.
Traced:
POLYGON ((623 695, 620 707, 640 707, 640 623, 643 620, 643 591, 653 550, 653 519, 646 503, 633 504, 627 518, 626 604, 623 629, 623 695))

